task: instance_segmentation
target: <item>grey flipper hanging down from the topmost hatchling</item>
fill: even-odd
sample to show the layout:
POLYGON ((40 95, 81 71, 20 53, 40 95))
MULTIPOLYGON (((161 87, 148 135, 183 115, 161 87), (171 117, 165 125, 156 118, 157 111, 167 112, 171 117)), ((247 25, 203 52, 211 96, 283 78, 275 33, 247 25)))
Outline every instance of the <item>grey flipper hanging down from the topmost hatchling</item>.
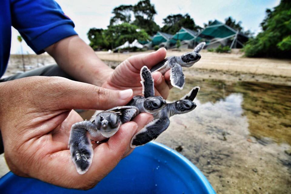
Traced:
POLYGON ((183 89, 185 84, 185 75, 183 74, 181 65, 178 63, 174 63, 171 67, 170 80, 172 86, 183 89))

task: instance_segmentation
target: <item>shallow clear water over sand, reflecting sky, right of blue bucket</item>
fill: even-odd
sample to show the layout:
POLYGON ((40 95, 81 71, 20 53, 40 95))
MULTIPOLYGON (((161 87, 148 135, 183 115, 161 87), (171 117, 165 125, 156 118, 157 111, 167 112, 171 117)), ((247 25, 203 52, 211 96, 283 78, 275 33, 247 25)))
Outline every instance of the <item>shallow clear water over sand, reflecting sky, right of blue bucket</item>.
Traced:
POLYGON ((199 85, 197 108, 171 117, 156 141, 179 150, 217 193, 290 193, 291 87, 186 80, 169 100, 199 85))

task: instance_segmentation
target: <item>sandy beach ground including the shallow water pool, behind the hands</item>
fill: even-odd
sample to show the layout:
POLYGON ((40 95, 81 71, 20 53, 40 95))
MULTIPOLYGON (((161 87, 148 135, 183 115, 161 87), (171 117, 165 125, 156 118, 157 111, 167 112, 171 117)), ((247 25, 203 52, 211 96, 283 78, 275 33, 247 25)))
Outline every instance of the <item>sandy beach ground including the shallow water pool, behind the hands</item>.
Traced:
MULTIPOLYGON (((167 56, 187 51, 170 50, 167 56)), ((114 68, 139 53, 96 54, 114 68)), ((172 89, 168 100, 199 85, 197 108, 171 117, 156 141, 186 156, 217 193, 291 193, 291 60, 242 55, 203 50, 199 62, 183 68, 185 87, 172 89)), ((42 54, 26 55, 25 63, 34 69, 55 62, 42 54)), ((4 76, 21 71, 21 57, 12 55, 4 76)), ((93 112, 83 114, 90 118, 93 112)), ((0 176, 8 172, 3 155, 0 168, 0 176)))

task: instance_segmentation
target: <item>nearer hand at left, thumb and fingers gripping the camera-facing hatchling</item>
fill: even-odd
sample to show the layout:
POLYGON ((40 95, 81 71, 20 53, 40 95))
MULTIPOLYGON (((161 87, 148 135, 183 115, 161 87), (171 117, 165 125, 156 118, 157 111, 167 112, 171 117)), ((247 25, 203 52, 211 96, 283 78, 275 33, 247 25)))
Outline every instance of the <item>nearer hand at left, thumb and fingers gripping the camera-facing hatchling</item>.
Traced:
POLYGON ((92 165, 80 175, 68 141, 72 124, 83 119, 71 109, 105 110, 125 105, 132 99, 132 90, 35 76, 0 83, 0 91, 0 129, 11 171, 68 188, 96 185, 132 151, 132 136, 152 120, 149 114, 139 114, 134 122, 121 125, 108 142, 93 144, 92 165))

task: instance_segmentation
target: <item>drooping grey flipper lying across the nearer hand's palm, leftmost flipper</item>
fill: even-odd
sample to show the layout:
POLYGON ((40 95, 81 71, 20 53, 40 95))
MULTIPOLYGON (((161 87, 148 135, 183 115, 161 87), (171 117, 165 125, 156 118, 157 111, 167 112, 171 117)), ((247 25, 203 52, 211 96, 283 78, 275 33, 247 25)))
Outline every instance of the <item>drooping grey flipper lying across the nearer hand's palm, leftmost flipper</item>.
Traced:
POLYGON ((93 148, 87 132, 92 128, 95 129, 95 125, 90 121, 77 122, 72 125, 68 147, 79 174, 87 172, 92 163, 93 148))

